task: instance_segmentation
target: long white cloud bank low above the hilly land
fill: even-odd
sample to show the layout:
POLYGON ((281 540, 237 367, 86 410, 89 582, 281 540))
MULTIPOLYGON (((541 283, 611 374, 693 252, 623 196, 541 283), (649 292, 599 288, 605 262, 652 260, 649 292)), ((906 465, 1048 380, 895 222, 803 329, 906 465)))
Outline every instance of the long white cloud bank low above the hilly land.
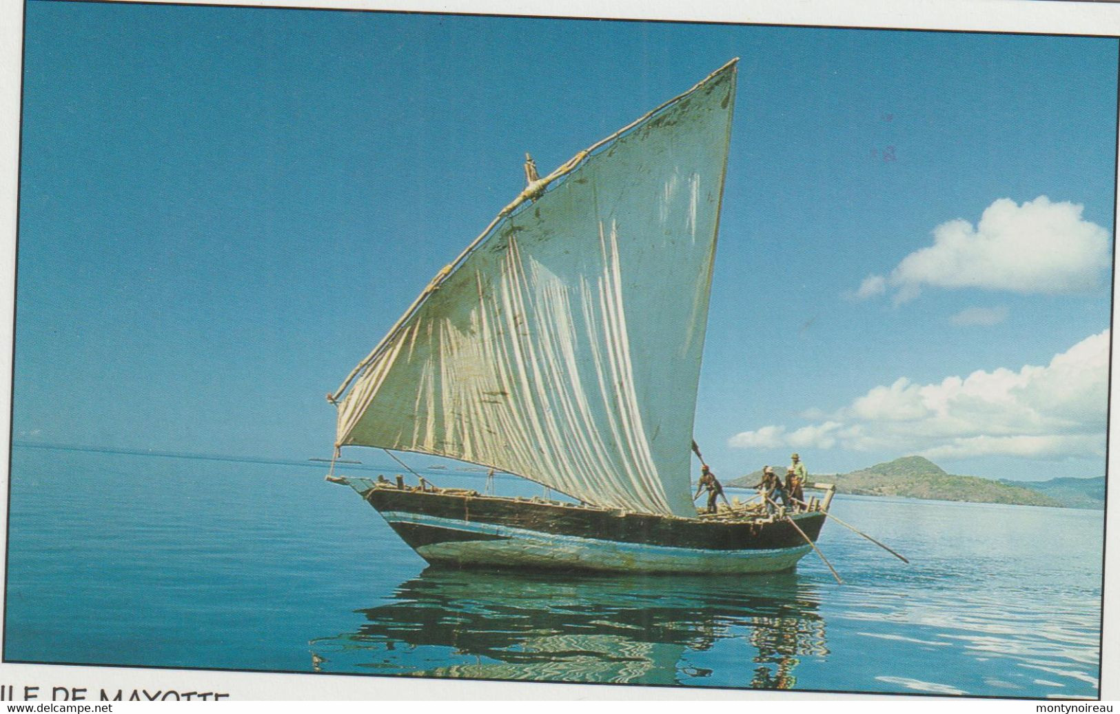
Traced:
POLYGON ((1109 339, 1109 330, 1088 337, 1046 366, 977 370, 932 384, 900 377, 815 423, 762 426, 729 444, 888 450, 931 459, 1103 455, 1109 339))

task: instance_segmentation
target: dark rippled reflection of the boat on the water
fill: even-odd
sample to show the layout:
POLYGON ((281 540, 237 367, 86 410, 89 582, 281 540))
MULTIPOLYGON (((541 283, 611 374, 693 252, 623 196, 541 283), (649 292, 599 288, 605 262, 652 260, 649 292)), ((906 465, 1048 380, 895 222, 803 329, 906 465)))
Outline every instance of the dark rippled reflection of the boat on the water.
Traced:
POLYGON ((818 605, 796 573, 558 582, 428 569, 358 610, 356 632, 311 641, 311 658, 325 673, 787 689, 799 658, 828 655, 818 605), (712 682, 706 658, 741 674, 712 682))

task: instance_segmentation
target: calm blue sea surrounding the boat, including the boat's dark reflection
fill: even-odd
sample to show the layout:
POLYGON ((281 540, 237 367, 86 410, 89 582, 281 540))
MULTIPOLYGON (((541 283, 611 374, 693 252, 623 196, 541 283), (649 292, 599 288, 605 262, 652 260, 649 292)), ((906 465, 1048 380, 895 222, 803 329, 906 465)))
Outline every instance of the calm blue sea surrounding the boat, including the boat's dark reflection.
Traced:
MULTIPOLYGON (((843 585, 812 555, 782 575, 550 577, 426 570, 324 471, 17 447, 7 659, 1098 693, 1101 511, 837 497, 833 513, 912 564, 829 524, 820 546, 843 585)), ((500 481, 515 489, 541 491, 500 481)))

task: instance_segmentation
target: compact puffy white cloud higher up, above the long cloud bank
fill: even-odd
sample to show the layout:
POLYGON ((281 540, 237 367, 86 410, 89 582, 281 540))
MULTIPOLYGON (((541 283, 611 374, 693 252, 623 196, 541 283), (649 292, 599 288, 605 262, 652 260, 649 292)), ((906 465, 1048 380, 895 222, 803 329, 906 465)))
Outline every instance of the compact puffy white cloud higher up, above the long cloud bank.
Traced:
POLYGON ((933 245, 911 253, 889 276, 870 275, 857 298, 895 289, 895 302, 923 288, 979 288, 1017 293, 1062 293, 1101 284, 1111 264, 1111 241, 1085 220, 1083 206, 1046 196, 1024 203, 1000 198, 980 222, 955 219, 933 229, 933 245))

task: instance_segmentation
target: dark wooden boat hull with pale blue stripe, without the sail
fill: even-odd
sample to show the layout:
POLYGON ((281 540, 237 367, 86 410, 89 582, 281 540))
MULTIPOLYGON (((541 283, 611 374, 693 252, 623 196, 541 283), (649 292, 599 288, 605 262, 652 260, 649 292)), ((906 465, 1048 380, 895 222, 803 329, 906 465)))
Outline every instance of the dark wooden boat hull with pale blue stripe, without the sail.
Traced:
MULTIPOLYGON (((785 520, 728 523, 468 494, 373 487, 347 479, 432 564, 647 573, 773 573, 811 546, 785 520)), ((794 516, 816 539, 824 514, 794 516)))

